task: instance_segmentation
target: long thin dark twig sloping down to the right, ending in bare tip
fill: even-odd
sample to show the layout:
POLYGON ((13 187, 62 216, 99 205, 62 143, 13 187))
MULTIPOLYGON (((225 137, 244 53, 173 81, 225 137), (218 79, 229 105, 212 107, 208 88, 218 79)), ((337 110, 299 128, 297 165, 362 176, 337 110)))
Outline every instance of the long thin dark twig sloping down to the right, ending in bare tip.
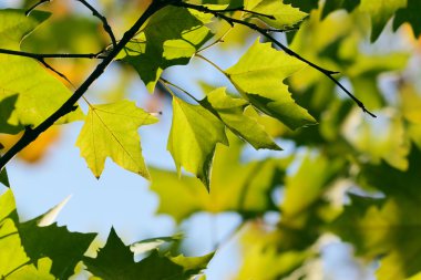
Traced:
MULTIPOLYGON (((237 24, 242 24, 242 25, 245 25, 245 27, 248 27, 249 29, 251 30, 255 30, 257 32, 259 32, 260 34, 263 34, 264 37, 266 37, 269 41, 271 41, 274 44, 276 44, 279 49, 281 49, 284 52, 286 52, 288 55, 291 55, 302 62, 305 62, 307 65, 311 66, 312 69, 316 69, 317 71, 319 71, 320 73, 322 73, 324 75, 326 75, 327 77, 329 77, 336 85, 338 85, 350 98, 352 98, 353 102, 356 102, 356 104, 362 110, 362 112, 369 114, 370 116, 372 117, 376 117, 376 115, 373 113, 371 113, 370 111, 368 111, 364 106, 364 104, 359 100, 350 91, 348 91, 333 75, 335 74, 338 74, 339 72, 337 71, 330 71, 330 70, 327 70, 327 69, 324 69, 315 63, 312 63, 311 61, 302 58, 301 55, 299 55, 298 53, 294 52, 291 49, 287 48, 286 45, 284 45, 283 43, 280 43, 278 40, 276 40, 274 37, 271 37, 269 33, 268 33, 268 30, 264 29, 264 28, 260 28, 254 23, 250 23, 248 21, 244 21, 244 20, 238 20, 238 19, 234 19, 234 18, 230 18, 230 17, 227 17, 223 13, 223 11, 220 10, 212 10, 212 9, 208 9, 207 7, 205 6, 197 6, 197 4, 191 4, 191 3, 186 3, 186 2, 174 2, 173 6, 175 7, 182 7, 182 8, 188 8, 188 9, 194 9, 196 11, 201 11, 201 12, 206 12, 206 13, 210 13, 210 14, 214 14, 214 17, 216 18, 219 18, 222 20, 225 20, 226 22, 228 22, 232 27, 234 27, 235 23, 237 24)), ((226 11, 226 10, 225 10, 226 11)))

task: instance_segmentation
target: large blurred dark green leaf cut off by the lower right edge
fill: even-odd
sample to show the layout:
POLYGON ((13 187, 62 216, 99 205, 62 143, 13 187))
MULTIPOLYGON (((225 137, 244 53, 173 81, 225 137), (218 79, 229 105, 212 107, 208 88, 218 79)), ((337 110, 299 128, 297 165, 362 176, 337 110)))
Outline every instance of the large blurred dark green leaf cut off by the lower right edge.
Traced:
POLYGON ((412 147, 407 170, 387 163, 363 165, 359 174, 362 186, 380 189, 383 199, 352 196, 332 228, 343 240, 352 242, 357 253, 368 258, 383 256, 380 280, 407 279, 420 271, 421 218, 415 215, 421 203, 421 153, 412 147))

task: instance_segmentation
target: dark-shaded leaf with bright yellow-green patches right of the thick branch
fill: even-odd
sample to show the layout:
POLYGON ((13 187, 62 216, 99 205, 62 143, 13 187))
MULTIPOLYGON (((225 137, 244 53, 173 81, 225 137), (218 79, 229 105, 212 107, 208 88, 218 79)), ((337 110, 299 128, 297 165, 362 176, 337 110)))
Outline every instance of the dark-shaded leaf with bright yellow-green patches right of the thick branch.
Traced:
POLYGON ((161 73, 172 65, 187 64, 209 34, 201 17, 187 9, 166 7, 151 17, 143 32, 126 44, 117 59, 133 65, 153 92, 161 73))

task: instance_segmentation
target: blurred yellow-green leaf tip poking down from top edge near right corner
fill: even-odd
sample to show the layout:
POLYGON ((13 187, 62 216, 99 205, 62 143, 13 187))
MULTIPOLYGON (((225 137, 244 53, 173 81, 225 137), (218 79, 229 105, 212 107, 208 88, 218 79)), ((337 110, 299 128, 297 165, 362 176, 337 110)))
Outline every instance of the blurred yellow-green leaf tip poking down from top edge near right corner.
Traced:
POLYGON ((407 0, 361 0, 359 10, 367 12, 371 19, 371 42, 374 42, 386 23, 400 8, 407 7, 407 0))

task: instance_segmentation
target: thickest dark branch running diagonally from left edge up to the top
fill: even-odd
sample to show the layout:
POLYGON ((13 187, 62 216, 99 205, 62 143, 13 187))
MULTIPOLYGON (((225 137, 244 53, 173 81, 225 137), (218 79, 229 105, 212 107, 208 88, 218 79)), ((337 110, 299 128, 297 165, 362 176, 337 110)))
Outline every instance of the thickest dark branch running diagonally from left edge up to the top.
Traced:
POLYGON ((6 166, 7 163, 9 163, 11 158, 13 158, 16 154, 18 154, 22 148, 37 139, 41 133, 52 126, 60 117, 74 111, 76 102, 83 96, 83 94, 85 94, 92 83, 104 73, 105 69, 111 64, 111 62, 113 62, 115 56, 136 34, 136 32, 142 28, 146 20, 156 11, 171 3, 172 1, 168 0, 154 0, 150 7, 147 7, 144 13, 137 19, 137 21, 124 33, 123 38, 120 40, 116 46, 111 50, 111 52, 103 59, 100 64, 97 64, 91 75, 88 76, 88 79, 74 91, 74 93, 63 103, 63 105, 39 126, 34 128, 28 127, 28 129, 24 131, 22 137, 8 152, 6 152, 2 157, 0 157, 0 170, 6 166))

